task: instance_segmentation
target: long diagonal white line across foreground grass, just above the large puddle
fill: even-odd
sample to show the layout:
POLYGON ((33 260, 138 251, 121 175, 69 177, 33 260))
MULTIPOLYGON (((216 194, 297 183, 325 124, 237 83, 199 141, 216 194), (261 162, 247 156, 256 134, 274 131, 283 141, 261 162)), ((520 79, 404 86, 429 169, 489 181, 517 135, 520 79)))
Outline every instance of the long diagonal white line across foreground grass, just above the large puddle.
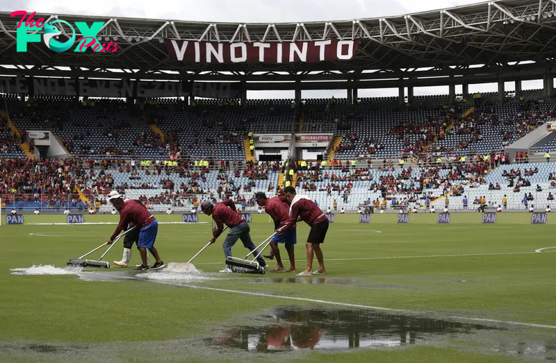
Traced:
MULTIPOLYGON (((167 285, 175 285, 171 282, 161 282, 167 285)), ((386 312, 404 312, 409 314, 425 314, 425 312, 416 312, 413 310, 404 310, 404 309, 393 309, 392 307, 382 307, 382 306, 372 306, 372 305, 361 305, 361 304, 352 304, 352 303, 340 303, 338 301, 327 301, 327 300, 318 300, 314 298, 299 298, 295 296, 281 296, 281 295, 272 295, 272 294, 264 294, 259 292, 244 292, 238 290, 231 290, 231 289, 219 289, 218 287, 206 287, 206 286, 197 286, 197 285, 179 285, 182 287, 190 287, 192 289, 203 289, 203 290, 211 290, 217 292, 229 292, 232 294, 241 294, 241 295, 250 295, 250 296, 259 296, 265 298, 281 298, 284 300, 295 300, 295 301, 306 301, 309 303, 320 303, 325 305, 336 305, 336 306, 345 306, 345 307, 357 307, 359 309, 367 309, 367 310, 380 310, 386 312)), ((451 319, 459 319, 459 320, 468 320, 468 321, 482 321, 488 323, 498 323, 498 324, 507 324, 507 325, 514 325, 514 326, 528 326, 532 328, 546 328, 546 329, 556 329, 556 326, 549 326, 544 324, 535 324, 535 323, 523 323, 521 321, 503 321, 503 320, 496 320, 496 319, 480 319, 480 318, 469 318, 466 316, 450 316, 451 319)))

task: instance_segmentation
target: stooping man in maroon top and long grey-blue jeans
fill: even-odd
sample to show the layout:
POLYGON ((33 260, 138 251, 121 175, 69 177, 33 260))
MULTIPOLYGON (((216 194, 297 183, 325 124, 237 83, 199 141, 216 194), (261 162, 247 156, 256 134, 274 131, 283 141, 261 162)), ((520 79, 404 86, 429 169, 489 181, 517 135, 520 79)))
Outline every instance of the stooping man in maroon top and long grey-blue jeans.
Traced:
MULTIPOLYGON (((216 223, 216 228, 213 230, 213 237, 211 238, 211 244, 213 244, 216 239, 222 234, 224 230, 224 224, 228 226, 229 232, 224 239, 222 247, 224 248, 224 255, 226 258, 231 256, 231 248, 236 244, 238 239, 241 239, 243 246, 247 248, 250 252, 254 251, 254 255, 259 255, 259 251, 256 251, 256 246, 251 240, 250 226, 247 221, 241 217, 238 212, 236 212, 236 203, 231 199, 222 201, 222 203, 216 203, 213 205, 210 201, 204 201, 201 204, 201 210, 204 214, 210 216, 212 215, 213 220, 216 223)), ((259 255, 256 259, 259 262, 261 268, 266 268, 266 262, 259 255)), ((226 267, 220 272, 234 272, 229 267, 226 267)))

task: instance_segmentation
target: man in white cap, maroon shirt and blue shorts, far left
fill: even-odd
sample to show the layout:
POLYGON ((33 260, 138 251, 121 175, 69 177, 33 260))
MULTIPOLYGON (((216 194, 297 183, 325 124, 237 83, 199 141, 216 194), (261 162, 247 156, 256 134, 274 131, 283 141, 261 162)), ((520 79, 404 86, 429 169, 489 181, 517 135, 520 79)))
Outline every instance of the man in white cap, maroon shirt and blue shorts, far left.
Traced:
POLYGON ((154 247, 156 234, 158 233, 158 221, 156 221, 156 218, 153 217, 143 203, 133 199, 124 201, 122 196, 117 192, 111 192, 110 196, 108 196, 108 200, 111 201, 114 208, 120 212, 120 223, 118 223, 116 230, 106 243, 111 244, 122 230, 127 230, 127 228, 129 228, 129 223, 133 223, 140 229, 137 248, 139 248, 142 260, 141 266, 136 270, 145 271, 149 269, 147 249, 152 253, 154 258, 156 258, 156 262, 154 262, 151 269, 161 269, 164 267, 165 264, 162 262, 161 257, 158 255, 158 251, 156 251, 154 247))

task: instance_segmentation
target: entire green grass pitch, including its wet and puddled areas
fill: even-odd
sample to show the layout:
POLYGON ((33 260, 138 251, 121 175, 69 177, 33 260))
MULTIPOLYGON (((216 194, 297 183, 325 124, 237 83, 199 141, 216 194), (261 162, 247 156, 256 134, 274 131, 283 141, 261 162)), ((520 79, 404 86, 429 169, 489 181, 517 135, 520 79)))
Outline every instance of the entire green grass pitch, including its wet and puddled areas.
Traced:
MULTIPOLYGON (((553 360, 556 248, 534 252, 556 246, 550 217, 534 226, 530 214, 502 213, 488 225, 480 214, 452 214, 450 224, 438 225, 431 214, 412 214, 409 224, 373 214, 360 224, 357 215, 338 214, 322 245, 327 276, 316 278, 220 274, 223 237, 194 261, 199 278, 163 271, 141 278, 115 268, 16 276, 12 269, 33 264, 65 267, 106 241, 115 225, 1 226, 0 360, 553 360)), ((26 223, 50 222, 65 217, 26 216, 26 223)), ((268 216, 253 215, 254 242, 272 226, 268 216)), ((298 271, 308 233, 300 223, 298 271)), ((156 247, 167 264, 186 262, 210 235, 210 223, 161 224, 156 247)), ((234 246, 236 256, 245 251, 234 246)), ((105 260, 121 257, 119 242, 105 260)), ((139 260, 134 249, 131 264, 139 260)))

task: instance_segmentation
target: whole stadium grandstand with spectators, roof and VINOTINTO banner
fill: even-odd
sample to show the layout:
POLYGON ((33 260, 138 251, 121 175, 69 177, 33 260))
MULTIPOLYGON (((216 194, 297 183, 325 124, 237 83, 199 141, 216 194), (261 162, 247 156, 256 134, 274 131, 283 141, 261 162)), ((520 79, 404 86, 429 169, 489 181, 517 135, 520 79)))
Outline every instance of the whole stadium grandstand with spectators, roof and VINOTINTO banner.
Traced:
POLYGON ((34 15, 103 24, 90 43, 54 24, 62 52, 21 17, 0 13, 4 211, 109 213, 117 189, 154 212, 254 212, 287 185, 334 212, 555 205, 554 1, 304 24, 34 15), (430 86, 448 94, 414 95, 430 86), (277 90, 294 96, 248 98, 277 90))

